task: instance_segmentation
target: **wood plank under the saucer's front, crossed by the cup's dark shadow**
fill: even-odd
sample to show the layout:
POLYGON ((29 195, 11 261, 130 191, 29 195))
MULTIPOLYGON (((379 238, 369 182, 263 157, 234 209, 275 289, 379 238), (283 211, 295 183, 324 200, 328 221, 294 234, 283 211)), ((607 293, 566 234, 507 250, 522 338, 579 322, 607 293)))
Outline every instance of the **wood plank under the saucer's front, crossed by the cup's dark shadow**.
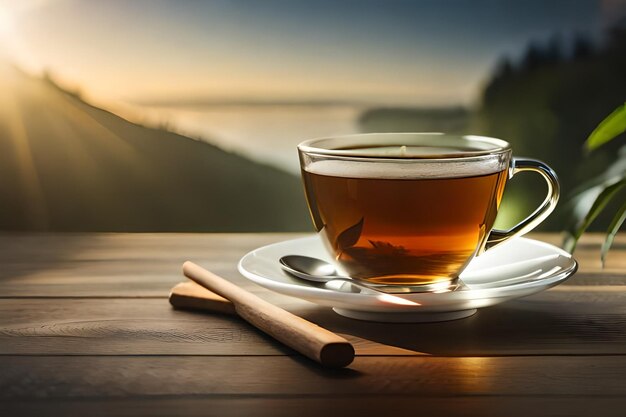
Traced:
MULTIPOLYGON (((626 292, 555 291, 451 322, 352 320, 293 298, 283 307, 354 343, 359 355, 626 354, 626 292)), ((236 317, 166 299, 3 299, 0 354, 292 354, 236 317)))

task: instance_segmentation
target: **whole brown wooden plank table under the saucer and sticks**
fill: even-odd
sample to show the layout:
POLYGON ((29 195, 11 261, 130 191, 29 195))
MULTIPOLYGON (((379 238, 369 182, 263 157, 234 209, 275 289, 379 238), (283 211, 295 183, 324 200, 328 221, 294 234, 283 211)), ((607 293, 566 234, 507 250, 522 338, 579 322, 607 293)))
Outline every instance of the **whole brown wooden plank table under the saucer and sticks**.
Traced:
MULTIPOLYGON (((626 415, 626 235, 549 291, 432 324, 354 321, 247 282, 286 234, 0 235, 0 415, 626 415), (177 311, 192 260, 344 335, 324 370, 236 317, 177 311)), ((558 243, 557 235, 534 235, 558 243)))

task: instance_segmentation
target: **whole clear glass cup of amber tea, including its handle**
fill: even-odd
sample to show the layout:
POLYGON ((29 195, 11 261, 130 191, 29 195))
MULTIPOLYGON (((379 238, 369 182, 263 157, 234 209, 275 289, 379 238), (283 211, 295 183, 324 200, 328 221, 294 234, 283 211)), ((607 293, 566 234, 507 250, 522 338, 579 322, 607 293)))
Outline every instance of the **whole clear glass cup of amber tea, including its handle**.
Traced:
POLYGON ((559 183, 544 163, 513 158, 500 139, 384 133, 298 145, 314 226, 338 269, 394 292, 448 285, 484 250, 554 210, 559 183), (493 229, 508 179, 534 171, 543 204, 514 228, 493 229))

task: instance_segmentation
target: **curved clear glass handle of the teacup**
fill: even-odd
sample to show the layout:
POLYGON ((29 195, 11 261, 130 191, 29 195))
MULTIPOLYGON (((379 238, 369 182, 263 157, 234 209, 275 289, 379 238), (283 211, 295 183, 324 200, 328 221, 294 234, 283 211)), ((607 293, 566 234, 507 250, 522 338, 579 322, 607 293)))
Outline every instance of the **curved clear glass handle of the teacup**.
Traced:
POLYGON ((485 250, 512 238, 530 232, 552 213, 559 201, 560 186, 556 173, 541 161, 527 158, 513 158, 509 168, 509 179, 518 172, 533 171, 539 173, 548 184, 548 195, 543 203, 526 219, 509 230, 493 229, 485 243, 485 250))

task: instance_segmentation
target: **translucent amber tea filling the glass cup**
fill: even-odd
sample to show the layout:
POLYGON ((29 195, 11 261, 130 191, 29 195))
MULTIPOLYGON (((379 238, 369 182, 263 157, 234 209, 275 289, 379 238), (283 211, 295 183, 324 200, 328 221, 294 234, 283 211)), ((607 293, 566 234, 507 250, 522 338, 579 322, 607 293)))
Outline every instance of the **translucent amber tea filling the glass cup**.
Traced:
POLYGON ((317 231, 351 277, 393 285, 458 276, 493 226, 507 176, 337 174, 324 163, 303 171, 317 231))

